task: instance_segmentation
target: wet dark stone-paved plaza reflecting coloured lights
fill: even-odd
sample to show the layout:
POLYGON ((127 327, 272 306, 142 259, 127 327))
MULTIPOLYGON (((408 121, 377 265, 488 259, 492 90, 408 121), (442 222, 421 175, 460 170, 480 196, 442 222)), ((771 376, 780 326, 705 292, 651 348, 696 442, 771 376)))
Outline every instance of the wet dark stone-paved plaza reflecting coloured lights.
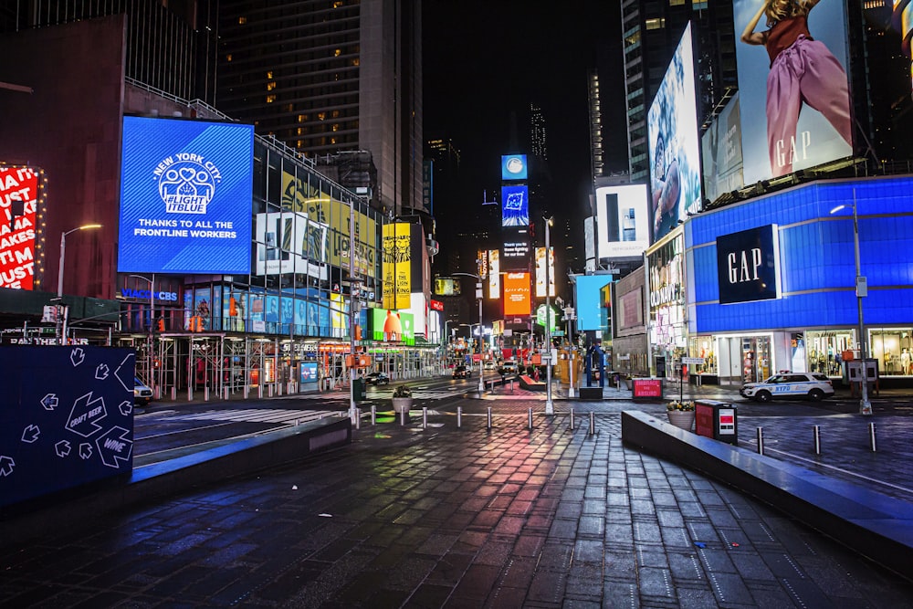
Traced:
MULTIPOLYGON (((618 413, 660 414, 662 404, 556 401, 553 417, 542 415, 540 396, 453 405, 464 411, 458 429, 454 409, 433 411, 426 428, 416 411, 404 426, 362 424, 352 446, 305 462, 4 544, 0 604, 913 606, 913 583, 757 500, 622 446, 618 413)), ((868 422, 801 408, 742 416, 740 438, 762 422, 767 446, 785 457, 801 452, 792 435, 813 421, 849 427, 845 435, 868 422)), ((877 409, 872 418, 913 424, 877 409)), ((834 467, 861 459, 862 446, 834 456, 834 467)), ((900 449, 908 450, 870 454, 857 469, 890 471, 900 449)), ((910 488, 908 480, 891 483, 910 488)))

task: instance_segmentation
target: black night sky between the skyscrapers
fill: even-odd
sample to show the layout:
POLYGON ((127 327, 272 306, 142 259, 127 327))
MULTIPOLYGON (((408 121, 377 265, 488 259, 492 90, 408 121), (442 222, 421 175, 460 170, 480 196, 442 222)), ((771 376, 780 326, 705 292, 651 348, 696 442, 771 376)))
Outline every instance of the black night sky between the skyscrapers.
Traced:
MULTIPOLYGON (((597 65, 597 49, 603 64, 614 59, 621 74, 618 13, 617 2, 592 0, 423 3, 425 140, 450 138, 461 151, 466 204, 480 204, 483 190, 491 199, 500 185, 501 154, 529 152, 522 149, 527 112, 536 102, 546 121, 552 179, 573 194, 573 208, 583 215, 590 180, 586 74, 597 65), (511 111, 519 151, 510 146, 511 111)), ((614 87, 623 89, 624 82, 614 87)), ((624 104, 623 91, 616 98, 624 104)), ((626 169, 626 153, 618 148, 626 146, 624 110, 620 121, 613 124, 620 136, 614 137, 614 169, 626 169)), ((567 208, 567 202, 553 205, 567 208)))

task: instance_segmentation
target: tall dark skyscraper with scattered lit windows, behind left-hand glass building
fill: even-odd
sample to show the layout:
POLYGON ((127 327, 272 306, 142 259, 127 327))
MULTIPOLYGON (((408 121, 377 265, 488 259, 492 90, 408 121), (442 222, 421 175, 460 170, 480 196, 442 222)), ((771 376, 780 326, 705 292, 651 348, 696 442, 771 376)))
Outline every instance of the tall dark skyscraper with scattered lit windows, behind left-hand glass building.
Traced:
POLYGON ((422 203, 421 5, 222 0, 215 106, 311 158, 371 152, 373 205, 422 203))

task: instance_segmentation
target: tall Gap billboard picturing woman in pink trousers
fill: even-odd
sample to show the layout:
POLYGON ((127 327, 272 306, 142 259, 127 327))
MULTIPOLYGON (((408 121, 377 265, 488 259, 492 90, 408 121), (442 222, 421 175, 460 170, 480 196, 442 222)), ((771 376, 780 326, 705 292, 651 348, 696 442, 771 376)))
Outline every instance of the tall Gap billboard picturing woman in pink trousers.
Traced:
MULTIPOLYGON (((814 5, 807 16, 811 36, 799 37, 772 61, 761 44, 765 16, 751 31, 755 44, 739 39, 758 7, 754 0, 732 3, 745 184, 853 154, 845 4, 814 5), (793 73, 810 76, 799 81, 793 73)), ((789 27, 790 20, 778 26, 789 27)))

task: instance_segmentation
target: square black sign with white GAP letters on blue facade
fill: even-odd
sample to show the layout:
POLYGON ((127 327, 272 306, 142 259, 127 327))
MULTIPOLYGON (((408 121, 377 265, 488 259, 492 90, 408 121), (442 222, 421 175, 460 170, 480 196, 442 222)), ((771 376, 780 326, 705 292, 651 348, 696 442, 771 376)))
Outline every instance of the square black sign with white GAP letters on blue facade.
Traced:
POLYGON ((717 237, 719 304, 780 298, 777 225, 717 237))

